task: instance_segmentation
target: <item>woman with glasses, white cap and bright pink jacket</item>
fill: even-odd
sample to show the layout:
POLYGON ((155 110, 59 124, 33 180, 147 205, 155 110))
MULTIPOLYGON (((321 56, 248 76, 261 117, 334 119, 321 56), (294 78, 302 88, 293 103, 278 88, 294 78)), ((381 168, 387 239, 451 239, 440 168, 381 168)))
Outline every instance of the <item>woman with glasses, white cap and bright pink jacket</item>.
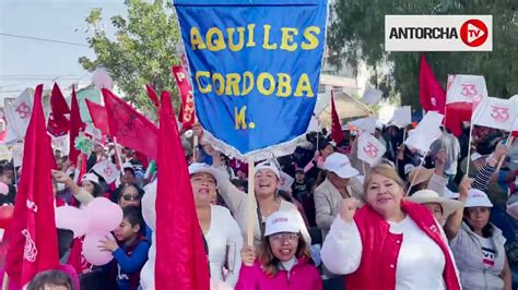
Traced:
POLYGON ((266 220, 264 240, 259 251, 248 246, 242 252, 242 258, 236 290, 322 289, 295 212, 271 214, 266 220))

